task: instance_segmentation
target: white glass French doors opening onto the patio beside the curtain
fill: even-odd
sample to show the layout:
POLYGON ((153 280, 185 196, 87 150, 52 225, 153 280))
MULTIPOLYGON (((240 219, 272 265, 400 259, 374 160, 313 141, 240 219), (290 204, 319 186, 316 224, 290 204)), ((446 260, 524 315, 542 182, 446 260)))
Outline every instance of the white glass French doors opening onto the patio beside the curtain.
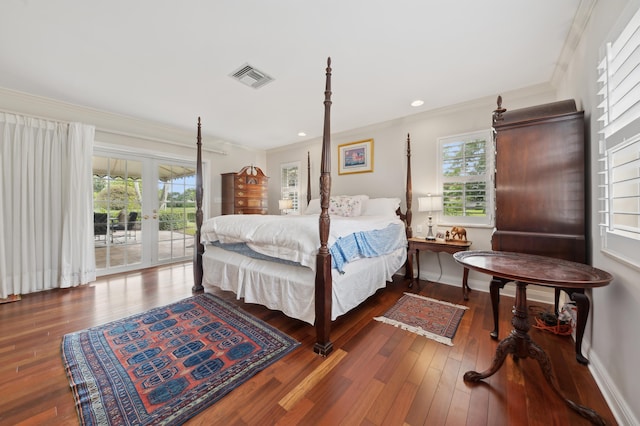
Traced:
POLYGON ((95 149, 97 275, 191 259, 195 163, 95 149))

